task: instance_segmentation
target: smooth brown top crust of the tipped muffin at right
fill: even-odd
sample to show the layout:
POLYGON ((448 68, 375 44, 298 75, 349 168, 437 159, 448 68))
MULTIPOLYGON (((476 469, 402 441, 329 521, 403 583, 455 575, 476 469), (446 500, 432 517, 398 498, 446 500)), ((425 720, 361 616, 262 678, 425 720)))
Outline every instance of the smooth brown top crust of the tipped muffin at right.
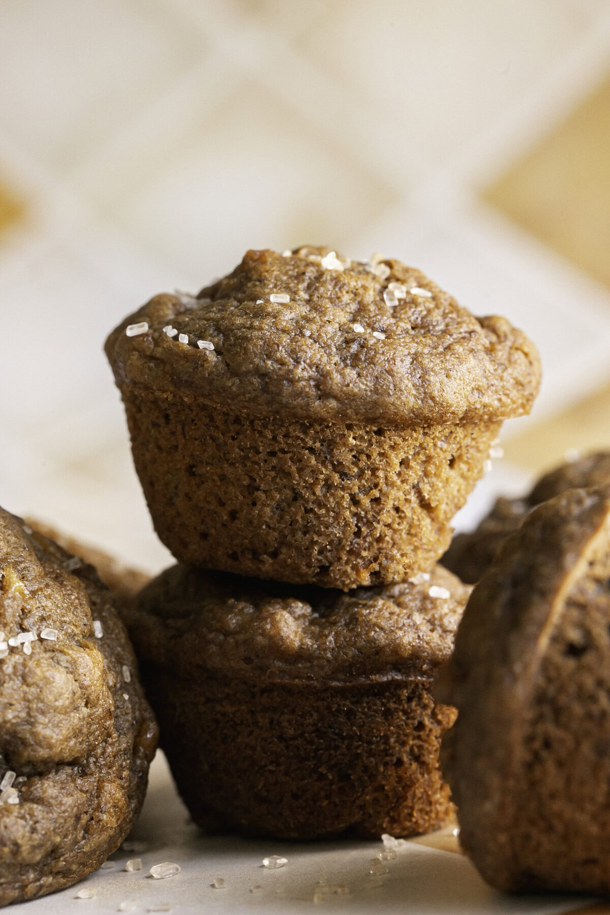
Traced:
MULTIPOLYGON (((531 802, 523 794, 523 745, 540 664, 594 544, 608 539, 609 516, 609 486, 568 490, 532 511, 475 588, 436 685, 437 699, 458 709, 441 759, 461 842, 498 888, 610 891, 607 873, 587 883, 582 869, 564 872, 570 848, 578 847, 577 823, 569 838, 554 834, 554 823, 540 834, 541 844, 556 843, 552 874, 532 874, 516 840, 519 807, 531 802)), ((600 723, 600 737, 604 728, 600 723)))

